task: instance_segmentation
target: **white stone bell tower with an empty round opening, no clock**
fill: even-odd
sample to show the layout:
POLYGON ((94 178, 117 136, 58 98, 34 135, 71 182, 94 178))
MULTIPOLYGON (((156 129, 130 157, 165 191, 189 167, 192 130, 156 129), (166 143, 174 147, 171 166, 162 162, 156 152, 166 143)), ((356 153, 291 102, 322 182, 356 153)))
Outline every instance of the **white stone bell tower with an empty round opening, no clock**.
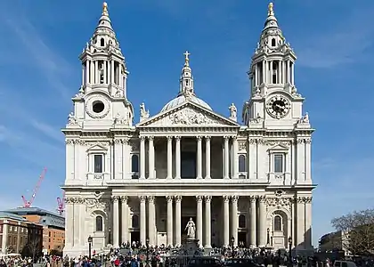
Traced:
POLYGON ((72 99, 74 111, 69 115, 67 127, 131 126, 134 109, 127 100, 126 61, 105 2, 98 25, 79 60, 82 62, 82 84, 72 99))

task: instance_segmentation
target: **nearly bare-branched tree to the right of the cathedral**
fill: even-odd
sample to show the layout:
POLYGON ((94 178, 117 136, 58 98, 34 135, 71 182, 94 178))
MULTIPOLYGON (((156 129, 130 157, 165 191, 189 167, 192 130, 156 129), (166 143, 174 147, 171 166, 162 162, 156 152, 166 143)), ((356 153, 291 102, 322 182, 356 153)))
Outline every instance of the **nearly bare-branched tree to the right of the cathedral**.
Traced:
POLYGON ((352 255, 374 252, 374 209, 355 211, 331 220, 341 231, 342 247, 352 255))

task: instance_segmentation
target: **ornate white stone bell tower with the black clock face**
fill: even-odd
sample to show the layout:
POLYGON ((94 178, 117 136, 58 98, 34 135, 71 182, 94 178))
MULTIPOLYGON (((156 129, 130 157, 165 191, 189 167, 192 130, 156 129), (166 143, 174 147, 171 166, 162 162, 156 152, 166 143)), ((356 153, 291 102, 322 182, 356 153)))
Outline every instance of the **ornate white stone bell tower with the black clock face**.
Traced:
POLYGON ((293 127, 302 117, 304 98, 295 86, 295 61, 297 56, 286 42, 270 3, 248 71, 250 100, 242 112, 246 125, 293 127))

